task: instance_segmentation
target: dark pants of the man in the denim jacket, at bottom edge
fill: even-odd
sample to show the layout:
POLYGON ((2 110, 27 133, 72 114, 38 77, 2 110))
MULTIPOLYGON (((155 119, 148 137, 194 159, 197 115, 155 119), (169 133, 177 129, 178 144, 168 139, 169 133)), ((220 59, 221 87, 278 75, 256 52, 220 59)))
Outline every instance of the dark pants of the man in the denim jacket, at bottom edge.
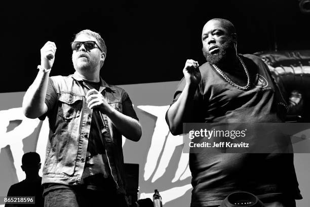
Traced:
POLYGON ((44 197, 45 207, 119 206, 127 207, 125 195, 116 192, 95 191, 83 188, 55 189, 44 197))

